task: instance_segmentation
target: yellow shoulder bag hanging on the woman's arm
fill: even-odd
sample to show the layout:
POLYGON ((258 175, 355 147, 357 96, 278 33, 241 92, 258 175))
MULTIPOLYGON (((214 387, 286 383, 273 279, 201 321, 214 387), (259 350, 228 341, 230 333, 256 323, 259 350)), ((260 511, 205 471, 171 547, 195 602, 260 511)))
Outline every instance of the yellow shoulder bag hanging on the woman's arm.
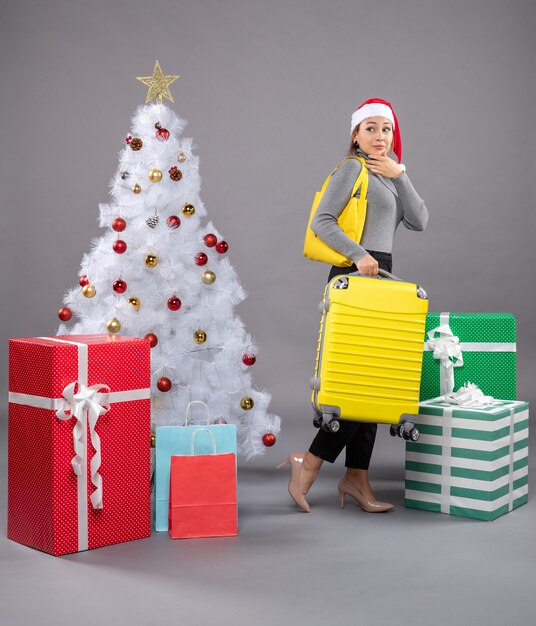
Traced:
MULTIPOLYGON (((365 159, 361 157, 346 157, 339 165, 333 170, 335 172, 344 161, 347 159, 357 159, 361 162, 361 172, 355 181, 354 188, 350 195, 348 204, 342 210, 339 215, 338 224, 350 239, 353 239, 356 243, 361 241, 361 235, 363 234, 363 228, 365 227, 365 219, 367 216, 367 189, 368 189, 368 170, 365 167, 365 159), (359 198, 355 197, 357 190, 361 187, 361 193, 359 198)), ((316 209, 320 204, 320 200, 324 196, 326 187, 328 186, 331 174, 326 178, 322 189, 317 191, 313 206, 311 208, 311 214, 309 215, 309 222, 307 224, 307 230, 305 232, 305 243, 303 244, 303 256, 311 259, 311 261, 320 261, 321 263, 328 263, 329 265, 337 265, 338 267, 349 267, 353 261, 347 259, 342 254, 330 248, 327 243, 322 241, 311 230, 311 222, 316 213, 316 209)))

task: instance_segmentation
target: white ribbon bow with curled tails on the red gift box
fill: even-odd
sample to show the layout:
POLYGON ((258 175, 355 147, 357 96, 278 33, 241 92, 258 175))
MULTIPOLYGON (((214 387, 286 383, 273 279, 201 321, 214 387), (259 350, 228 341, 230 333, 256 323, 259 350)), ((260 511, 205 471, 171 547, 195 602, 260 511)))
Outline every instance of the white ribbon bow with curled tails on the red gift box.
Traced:
POLYGON ((110 410, 108 403, 110 388, 108 385, 91 385, 86 387, 83 383, 73 382, 65 387, 62 392, 65 403, 56 411, 56 416, 60 420, 76 418, 73 428, 73 446, 75 456, 71 460, 71 465, 77 476, 83 476, 86 459, 86 447, 84 440, 86 436, 86 425, 89 424, 91 445, 95 454, 91 459, 91 482, 95 490, 91 494, 91 504, 94 509, 102 509, 102 476, 99 474, 101 465, 101 445, 100 437, 95 431, 95 426, 100 415, 104 415, 110 410), (75 389, 78 388, 76 391, 75 389), (101 392, 102 389, 106 391, 101 392))

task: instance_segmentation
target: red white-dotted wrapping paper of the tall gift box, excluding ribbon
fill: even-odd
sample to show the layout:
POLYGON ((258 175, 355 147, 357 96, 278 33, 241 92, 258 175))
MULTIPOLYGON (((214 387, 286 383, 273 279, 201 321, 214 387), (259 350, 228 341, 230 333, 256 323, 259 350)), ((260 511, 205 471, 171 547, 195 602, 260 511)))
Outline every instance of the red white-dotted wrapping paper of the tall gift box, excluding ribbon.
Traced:
MULTIPOLYGON (((89 346, 88 385, 113 391, 150 386, 149 343, 110 335, 68 336, 89 346)), ((10 341, 9 390, 58 398, 77 380, 78 348, 38 338, 10 341)), ((77 477, 71 466, 74 419, 9 405, 8 537, 54 555, 78 551, 77 477)), ((99 417, 104 508, 89 501, 89 548, 150 535, 150 400, 113 403, 99 417)), ((89 439, 89 433, 88 433, 89 439)))

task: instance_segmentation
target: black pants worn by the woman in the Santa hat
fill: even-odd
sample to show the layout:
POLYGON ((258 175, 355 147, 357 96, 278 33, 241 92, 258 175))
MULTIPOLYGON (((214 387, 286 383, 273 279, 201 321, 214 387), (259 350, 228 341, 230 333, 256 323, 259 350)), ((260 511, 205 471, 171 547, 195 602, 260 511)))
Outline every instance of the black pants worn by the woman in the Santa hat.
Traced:
MULTIPOLYGON (((392 271, 393 260, 387 252, 368 251, 373 256, 381 269, 392 271)), ((328 282, 334 277, 341 274, 350 274, 356 272, 355 264, 350 267, 331 268, 328 282)), ((376 440, 376 431, 378 425, 369 422, 351 422, 341 419, 341 427, 336 433, 326 432, 320 429, 313 439, 313 443, 309 448, 309 452, 320 457, 324 461, 333 463, 346 446, 346 467, 352 469, 368 469, 374 441, 376 440)))

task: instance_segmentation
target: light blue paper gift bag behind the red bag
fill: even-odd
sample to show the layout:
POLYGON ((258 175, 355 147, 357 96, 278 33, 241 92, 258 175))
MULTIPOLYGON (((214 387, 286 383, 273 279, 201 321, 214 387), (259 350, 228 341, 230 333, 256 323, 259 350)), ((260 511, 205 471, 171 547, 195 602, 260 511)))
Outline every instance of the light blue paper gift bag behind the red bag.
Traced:
MULTIPOLYGON (((169 474, 171 457, 190 454, 190 441, 195 431, 209 430, 214 436, 217 454, 236 454, 236 426, 234 424, 208 424, 208 407, 200 400, 190 402, 186 409, 184 426, 157 426, 155 442, 155 530, 168 530, 169 474), (207 412, 206 424, 189 425, 190 407, 201 404, 207 412)), ((209 433, 196 437, 195 453, 212 454, 213 441, 209 433)))

